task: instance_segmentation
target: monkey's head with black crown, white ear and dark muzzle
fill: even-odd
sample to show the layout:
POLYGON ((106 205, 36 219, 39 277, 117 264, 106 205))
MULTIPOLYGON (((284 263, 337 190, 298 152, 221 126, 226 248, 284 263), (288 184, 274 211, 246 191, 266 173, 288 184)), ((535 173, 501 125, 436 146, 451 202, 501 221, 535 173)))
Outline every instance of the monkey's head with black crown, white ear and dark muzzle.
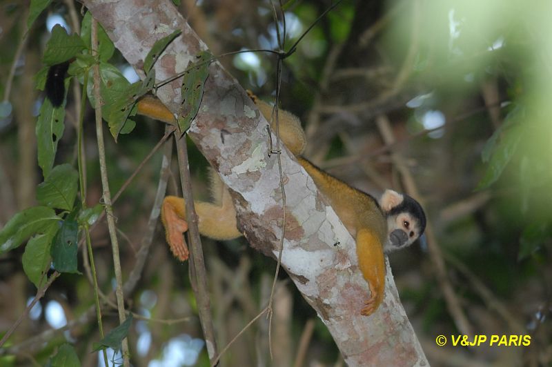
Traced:
POLYGON ((410 246, 426 229, 426 215, 420 203, 406 194, 385 190, 380 206, 387 219, 387 239, 384 251, 391 252, 410 246))

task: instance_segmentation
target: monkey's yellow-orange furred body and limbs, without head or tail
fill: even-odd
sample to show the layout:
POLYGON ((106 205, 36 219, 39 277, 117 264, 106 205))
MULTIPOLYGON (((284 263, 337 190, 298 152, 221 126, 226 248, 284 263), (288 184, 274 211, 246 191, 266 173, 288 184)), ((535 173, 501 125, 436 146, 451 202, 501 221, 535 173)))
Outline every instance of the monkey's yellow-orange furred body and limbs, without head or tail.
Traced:
MULTIPOLYGON (((253 95, 250 97, 267 121, 271 121, 272 106, 253 95)), ((174 117, 160 101, 152 98, 146 99, 144 103, 143 101, 144 99, 138 102, 139 113, 173 123, 174 117)), ((271 122, 270 125, 273 129, 276 128, 275 122, 271 122)), ((387 236, 387 223, 382 210, 370 195, 348 186, 300 157, 304 152, 306 139, 301 122, 295 115, 279 111, 279 136, 286 147, 297 156, 317 188, 328 198, 339 219, 355 237, 359 268, 364 279, 368 281, 371 292, 371 297, 365 302, 361 313, 371 315, 380 306, 385 287, 383 244, 387 236)), ((195 202, 199 232, 213 239, 233 239, 241 236, 236 227, 236 212, 228 190, 218 177, 212 182, 215 202, 195 202)), ((169 196, 165 198, 161 210, 168 244, 173 254, 182 261, 188 258, 188 248, 183 237, 183 233, 188 230, 184 208, 184 199, 169 196)))

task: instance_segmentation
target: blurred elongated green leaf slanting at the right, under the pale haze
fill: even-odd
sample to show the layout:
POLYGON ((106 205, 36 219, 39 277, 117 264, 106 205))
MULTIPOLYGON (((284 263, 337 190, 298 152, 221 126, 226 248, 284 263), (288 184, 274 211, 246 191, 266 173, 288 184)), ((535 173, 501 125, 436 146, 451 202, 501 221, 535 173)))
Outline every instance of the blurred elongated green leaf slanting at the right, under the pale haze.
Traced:
POLYGON ((502 171, 504 171, 504 168, 506 168, 506 165, 517 150, 522 133, 523 130, 519 123, 504 131, 489 159, 485 174, 479 184, 477 184, 475 190, 488 188, 502 175, 502 171))

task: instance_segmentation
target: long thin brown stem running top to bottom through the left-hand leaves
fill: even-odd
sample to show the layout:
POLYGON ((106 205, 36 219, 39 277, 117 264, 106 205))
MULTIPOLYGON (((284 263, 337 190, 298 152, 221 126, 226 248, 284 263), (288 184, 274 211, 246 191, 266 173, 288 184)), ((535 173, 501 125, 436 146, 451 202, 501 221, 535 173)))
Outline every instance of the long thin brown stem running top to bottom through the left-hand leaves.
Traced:
MULTIPOLYGON (((98 48, 98 23, 92 19, 92 54, 97 55, 98 48)), ((103 203, 106 206, 106 215, 108 220, 108 230, 111 239, 111 249, 113 252, 113 268, 115 270, 115 297, 117 298, 117 308, 119 311, 119 323, 123 324, 126 320, 125 315, 125 300, 123 294, 123 275, 121 271, 121 259, 119 257, 119 241, 117 240, 117 230, 115 229, 115 218, 113 216, 113 208, 111 203, 111 192, 109 190, 108 170, 106 163, 106 149, 103 143, 103 129, 101 121, 101 95, 99 91, 100 77, 99 64, 95 63, 92 67, 94 71, 94 99, 96 112, 96 136, 98 143, 99 168, 101 175, 101 186, 103 189, 103 203)), ((122 341, 121 352, 123 354, 124 367, 130 367, 130 353, 128 350, 128 338, 122 341)))

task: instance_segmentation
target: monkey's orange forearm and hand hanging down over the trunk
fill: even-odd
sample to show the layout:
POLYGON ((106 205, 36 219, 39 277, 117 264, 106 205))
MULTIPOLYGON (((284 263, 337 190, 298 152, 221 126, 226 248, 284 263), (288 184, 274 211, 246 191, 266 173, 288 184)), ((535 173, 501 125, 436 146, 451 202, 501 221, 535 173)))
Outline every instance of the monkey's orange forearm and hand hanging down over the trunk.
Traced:
POLYGON ((358 266, 370 288, 370 298, 364 303, 365 306, 360 313, 369 316, 377 310, 384 299, 384 252, 380 239, 366 228, 358 230, 356 241, 358 266))

